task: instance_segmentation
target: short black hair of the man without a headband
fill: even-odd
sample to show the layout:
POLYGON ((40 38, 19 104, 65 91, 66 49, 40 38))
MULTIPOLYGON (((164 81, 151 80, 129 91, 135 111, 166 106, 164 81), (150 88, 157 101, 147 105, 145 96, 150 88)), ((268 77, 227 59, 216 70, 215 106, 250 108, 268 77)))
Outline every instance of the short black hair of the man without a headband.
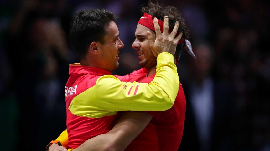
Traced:
POLYGON ((79 59, 86 56, 91 42, 103 43, 105 27, 116 19, 107 9, 79 10, 70 23, 69 42, 79 59))

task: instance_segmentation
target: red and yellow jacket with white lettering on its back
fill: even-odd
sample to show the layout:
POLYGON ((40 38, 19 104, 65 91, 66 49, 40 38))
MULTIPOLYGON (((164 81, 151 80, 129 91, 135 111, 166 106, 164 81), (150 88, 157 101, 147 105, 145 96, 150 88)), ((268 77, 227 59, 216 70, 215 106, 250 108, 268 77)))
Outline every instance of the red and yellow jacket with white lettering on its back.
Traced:
POLYGON ((69 74, 65 87, 69 148, 111 130, 117 111, 171 108, 179 88, 174 57, 167 52, 158 55, 156 75, 149 84, 123 82, 130 75, 113 76, 80 64, 70 64, 69 74))

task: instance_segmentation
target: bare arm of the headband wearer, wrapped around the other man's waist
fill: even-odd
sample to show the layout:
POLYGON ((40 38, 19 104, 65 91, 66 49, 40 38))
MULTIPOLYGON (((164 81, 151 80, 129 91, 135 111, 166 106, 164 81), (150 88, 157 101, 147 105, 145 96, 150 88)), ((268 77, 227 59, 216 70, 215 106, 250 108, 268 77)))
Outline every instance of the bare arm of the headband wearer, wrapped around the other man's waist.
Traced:
MULTIPOLYGON (((124 150, 138 134, 148 125, 152 115, 145 112, 127 111, 122 114, 115 126, 106 134, 88 139, 74 151, 121 151, 124 150)), ((62 138, 68 141, 68 137, 62 138)), ((61 141, 60 141, 61 142, 61 141)), ((61 142, 62 143, 62 142, 61 142)), ((65 151, 66 148, 52 144, 49 151, 65 151)))

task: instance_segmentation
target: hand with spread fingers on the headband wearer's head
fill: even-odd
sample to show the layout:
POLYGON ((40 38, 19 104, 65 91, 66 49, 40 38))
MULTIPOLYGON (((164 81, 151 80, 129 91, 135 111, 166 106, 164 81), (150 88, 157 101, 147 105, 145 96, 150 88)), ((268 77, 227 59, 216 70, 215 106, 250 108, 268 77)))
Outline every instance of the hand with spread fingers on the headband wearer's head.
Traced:
POLYGON ((153 34, 150 31, 147 31, 146 34, 148 36, 149 45, 152 50, 152 53, 155 57, 162 52, 169 52, 170 54, 174 55, 176 50, 176 45, 178 41, 181 39, 183 33, 180 33, 176 38, 175 35, 177 33, 179 22, 176 21, 174 25, 174 29, 171 34, 168 33, 169 31, 169 18, 168 16, 164 17, 163 20, 163 33, 160 31, 160 27, 158 25, 158 19, 154 18, 154 26, 156 31, 156 40, 153 40, 153 34))

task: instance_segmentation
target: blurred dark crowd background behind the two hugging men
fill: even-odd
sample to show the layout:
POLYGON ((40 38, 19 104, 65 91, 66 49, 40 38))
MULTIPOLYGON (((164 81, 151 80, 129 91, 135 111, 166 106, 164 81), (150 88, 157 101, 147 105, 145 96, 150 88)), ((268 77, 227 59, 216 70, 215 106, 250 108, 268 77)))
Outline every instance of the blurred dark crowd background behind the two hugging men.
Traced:
MULTIPOLYGON (((269 1, 159 0, 179 8, 197 59, 183 52, 187 100, 179 150, 270 150, 269 1)), ((125 47, 113 74, 139 69, 135 39, 147 0, 0 0, 1 149, 45 150, 65 130, 68 44, 79 9, 114 12, 125 47)), ((169 139, 169 138, 168 138, 169 139)))

